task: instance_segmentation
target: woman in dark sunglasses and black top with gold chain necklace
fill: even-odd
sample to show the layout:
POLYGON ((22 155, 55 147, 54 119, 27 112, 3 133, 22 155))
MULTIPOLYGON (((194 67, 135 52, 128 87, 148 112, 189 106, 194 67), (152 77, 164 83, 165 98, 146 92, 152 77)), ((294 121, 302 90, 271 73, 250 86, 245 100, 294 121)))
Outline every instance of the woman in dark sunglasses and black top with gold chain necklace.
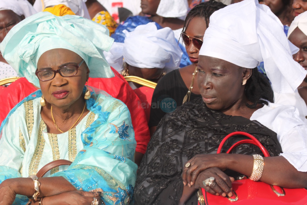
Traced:
POLYGON ((151 135, 155 132, 161 118, 166 114, 166 111, 175 110, 176 106, 164 109, 163 99, 172 98, 172 105, 180 106, 184 102, 193 100, 200 96, 197 86, 197 64, 199 49, 203 43, 205 30, 209 26, 209 17, 213 12, 224 8, 223 3, 210 0, 209 2, 200 3, 188 13, 185 19, 181 38, 185 44, 188 56, 192 62, 191 65, 176 69, 167 73, 156 86, 152 96, 150 111, 149 127, 151 135), (205 26, 206 25, 206 26, 205 26), (162 102, 162 104, 161 104, 162 102), (160 105, 161 104, 161 105, 160 105))

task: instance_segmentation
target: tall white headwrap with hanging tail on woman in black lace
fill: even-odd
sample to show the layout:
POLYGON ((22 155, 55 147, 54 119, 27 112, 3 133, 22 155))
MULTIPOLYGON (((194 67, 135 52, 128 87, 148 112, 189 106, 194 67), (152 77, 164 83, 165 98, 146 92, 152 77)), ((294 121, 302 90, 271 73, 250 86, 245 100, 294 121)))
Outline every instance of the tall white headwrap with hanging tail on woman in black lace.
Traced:
POLYGON ((240 67, 264 62, 273 91, 294 92, 306 77, 292 58, 296 48, 283 32, 283 24, 270 8, 257 0, 244 0, 214 12, 199 55, 220 58, 240 67))

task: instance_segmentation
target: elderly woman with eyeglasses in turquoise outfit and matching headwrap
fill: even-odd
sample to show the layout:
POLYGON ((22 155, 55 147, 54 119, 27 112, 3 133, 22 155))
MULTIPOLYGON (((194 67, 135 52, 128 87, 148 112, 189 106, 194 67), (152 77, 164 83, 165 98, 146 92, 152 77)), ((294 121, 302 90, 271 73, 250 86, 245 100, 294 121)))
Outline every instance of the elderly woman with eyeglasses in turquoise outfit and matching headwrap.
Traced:
POLYGON ((130 204, 137 165, 129 110, 86 86, 88 77, 112 77, 103 56, 112 43, 102 25, 48 12, 5 37, 4 58, 40 90, 1 125, 0 204, 130 204), (57 159, 72 164, 33 176, 57 159))

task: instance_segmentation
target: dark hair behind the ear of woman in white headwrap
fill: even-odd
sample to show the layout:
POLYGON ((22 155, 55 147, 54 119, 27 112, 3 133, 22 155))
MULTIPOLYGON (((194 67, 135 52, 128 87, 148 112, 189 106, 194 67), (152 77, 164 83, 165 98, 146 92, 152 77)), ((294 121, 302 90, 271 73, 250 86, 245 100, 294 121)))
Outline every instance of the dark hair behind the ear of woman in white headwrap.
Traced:
POLYGON ((270 82, 264 75, 258 72, 257 67, 252 69, 251 77, 247 80, 244 93, 247 99, 252 103, 246 103, 248 108, 255 108, 257 104, 273 103, 273 90, 270 82))

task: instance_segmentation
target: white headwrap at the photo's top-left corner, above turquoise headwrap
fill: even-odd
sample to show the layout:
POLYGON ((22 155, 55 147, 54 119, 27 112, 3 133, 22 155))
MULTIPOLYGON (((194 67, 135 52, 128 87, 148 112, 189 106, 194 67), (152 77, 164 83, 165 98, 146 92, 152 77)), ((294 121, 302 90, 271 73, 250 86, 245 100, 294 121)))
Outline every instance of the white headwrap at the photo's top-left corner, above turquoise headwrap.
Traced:
POLYGON ((12 10, 17 15, 24 15, 26 18, 37 13, 27 0, 1 0, 1 10, 12 10))

